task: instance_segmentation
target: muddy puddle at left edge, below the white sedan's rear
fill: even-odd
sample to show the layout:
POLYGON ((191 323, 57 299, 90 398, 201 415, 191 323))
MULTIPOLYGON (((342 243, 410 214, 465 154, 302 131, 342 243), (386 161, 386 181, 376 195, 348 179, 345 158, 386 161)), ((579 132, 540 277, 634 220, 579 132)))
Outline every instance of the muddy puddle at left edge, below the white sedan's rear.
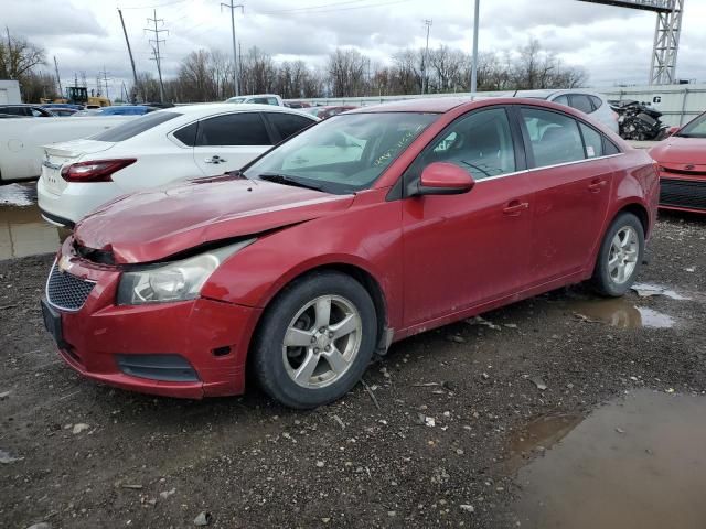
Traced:
POLYGON ((0 260, 54 252, 67 235, 40 216, 35 184, 0 186, 0 260))

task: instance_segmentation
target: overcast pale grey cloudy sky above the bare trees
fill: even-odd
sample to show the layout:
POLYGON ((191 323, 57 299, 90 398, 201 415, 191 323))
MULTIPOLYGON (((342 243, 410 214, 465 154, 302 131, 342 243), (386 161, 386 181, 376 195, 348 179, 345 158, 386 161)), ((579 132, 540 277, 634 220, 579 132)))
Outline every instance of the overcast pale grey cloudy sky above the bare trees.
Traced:
MULTIPOLYGON (((424 46, 431 19, 431 47, 471 50, 471 0, 238 0, 236 36, 243 51, 258 46, 276 61, 302 58, 322 65, 336 46, 351 46, 373 61, 389 62, 399 48, 424 46)), ((124 12, 138 71, 156 73, 147 18, 157 7, 163 74, 200 47, 231 53, 229 10, 220 0, 0 0, 0 22, 56 56, 64 86, 86 73, 88 87, 105 68, 110 96, 131 79, 117 8, 124 12)), ((535 36, 566 64, 587 69, 591 86, 646 84, 655 14, 577 0, 481 0, 481 51, 513 51, 535 36)), ((677 65, 681 78, 706 82, 706 1, 686 0, 677 65)), ((153 26, 153 25, 152 25, 153 26)), ((53 63, 51 64, 53 67, 53 63)), ((50 66, 47 65, 47 68, 50 66)))

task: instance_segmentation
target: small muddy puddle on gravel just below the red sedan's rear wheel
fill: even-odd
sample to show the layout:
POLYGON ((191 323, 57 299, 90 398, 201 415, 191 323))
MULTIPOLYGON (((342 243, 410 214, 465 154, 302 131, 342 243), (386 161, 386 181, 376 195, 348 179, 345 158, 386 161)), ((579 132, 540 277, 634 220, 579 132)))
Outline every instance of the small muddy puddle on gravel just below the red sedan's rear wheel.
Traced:
POLYGON ((624 298, 574 301, 568 307, 577 317, 585 316, 618 328, 670 328, 676 323, 667 314, 646 306, 635 306, 624 298))

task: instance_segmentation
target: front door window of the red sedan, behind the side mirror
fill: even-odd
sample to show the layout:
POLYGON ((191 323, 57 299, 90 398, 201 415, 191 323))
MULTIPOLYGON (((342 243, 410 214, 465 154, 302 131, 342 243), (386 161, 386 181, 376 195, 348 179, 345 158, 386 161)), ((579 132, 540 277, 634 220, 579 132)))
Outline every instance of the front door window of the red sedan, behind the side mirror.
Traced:
POLYGON ((453 122, 417 159, 413 179, 434 162, 459 165, 479 181, 514 172, 515 149, 505 109, 479 110, 453 122))

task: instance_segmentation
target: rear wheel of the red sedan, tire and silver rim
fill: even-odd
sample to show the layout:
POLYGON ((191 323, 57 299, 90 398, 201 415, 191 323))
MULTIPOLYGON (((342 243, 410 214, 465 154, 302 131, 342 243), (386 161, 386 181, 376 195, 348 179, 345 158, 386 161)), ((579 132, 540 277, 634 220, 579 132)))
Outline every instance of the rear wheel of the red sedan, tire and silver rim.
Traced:
POLYGON ((644 256, 644 228, 632 213, 621 213, 608 228, 593 271, 596 291, 620 298, 635 281, 644 256))

